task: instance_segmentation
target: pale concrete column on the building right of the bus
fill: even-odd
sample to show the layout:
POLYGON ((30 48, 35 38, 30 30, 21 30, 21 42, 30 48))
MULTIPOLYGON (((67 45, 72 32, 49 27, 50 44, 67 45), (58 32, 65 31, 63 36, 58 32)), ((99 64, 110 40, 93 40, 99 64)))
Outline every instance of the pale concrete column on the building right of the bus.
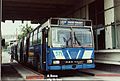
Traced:
MULTIPOLYGON (((104 10, 114 6, 114 0, 104 0, 104 10)), ((114 22, 114 8, 105 11, 105 25, 114 22)), ((105 28, 105 47, 112 48, 112 26, 105 28)))

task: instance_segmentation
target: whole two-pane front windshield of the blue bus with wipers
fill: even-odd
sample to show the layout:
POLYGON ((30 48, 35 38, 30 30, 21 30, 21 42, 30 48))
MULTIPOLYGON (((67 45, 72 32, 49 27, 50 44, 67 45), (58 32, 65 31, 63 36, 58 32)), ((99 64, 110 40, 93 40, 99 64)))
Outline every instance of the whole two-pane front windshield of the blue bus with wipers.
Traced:
POLYGON ((52 28, 53 47, 92 47, 92 40, 90 28, 52 28))

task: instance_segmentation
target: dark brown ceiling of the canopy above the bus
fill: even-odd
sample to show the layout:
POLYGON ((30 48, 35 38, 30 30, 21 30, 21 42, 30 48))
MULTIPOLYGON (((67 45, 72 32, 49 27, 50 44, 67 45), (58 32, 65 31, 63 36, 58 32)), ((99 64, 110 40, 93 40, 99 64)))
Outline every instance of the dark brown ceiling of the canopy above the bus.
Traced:
POLYGON ((2 21, 44 22, 50 17, 66 17, 82 0, 2 0, 2 21))

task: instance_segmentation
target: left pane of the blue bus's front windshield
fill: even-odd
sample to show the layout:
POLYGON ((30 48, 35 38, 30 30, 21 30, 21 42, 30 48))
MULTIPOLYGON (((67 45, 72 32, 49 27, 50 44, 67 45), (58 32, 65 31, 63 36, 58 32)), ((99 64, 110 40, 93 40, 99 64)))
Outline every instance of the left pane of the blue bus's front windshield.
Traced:
POLYGON ((52 28, 52 46, 66 47, 66 41, 71 39, 70 31, 70 28, 52 28))

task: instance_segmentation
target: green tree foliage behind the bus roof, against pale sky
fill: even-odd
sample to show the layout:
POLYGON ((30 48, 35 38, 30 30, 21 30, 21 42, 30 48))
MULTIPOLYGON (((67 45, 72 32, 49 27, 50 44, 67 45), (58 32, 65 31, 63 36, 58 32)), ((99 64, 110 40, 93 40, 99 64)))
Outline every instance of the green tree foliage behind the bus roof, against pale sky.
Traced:
POLYGON ((24 25, 20 25, 21 31, 20 34, 18 35, 18 40, 20 40, 22 37, 26 36, 29 32, 33 30, 31 26, 28 25, 28 23, 24 25))

